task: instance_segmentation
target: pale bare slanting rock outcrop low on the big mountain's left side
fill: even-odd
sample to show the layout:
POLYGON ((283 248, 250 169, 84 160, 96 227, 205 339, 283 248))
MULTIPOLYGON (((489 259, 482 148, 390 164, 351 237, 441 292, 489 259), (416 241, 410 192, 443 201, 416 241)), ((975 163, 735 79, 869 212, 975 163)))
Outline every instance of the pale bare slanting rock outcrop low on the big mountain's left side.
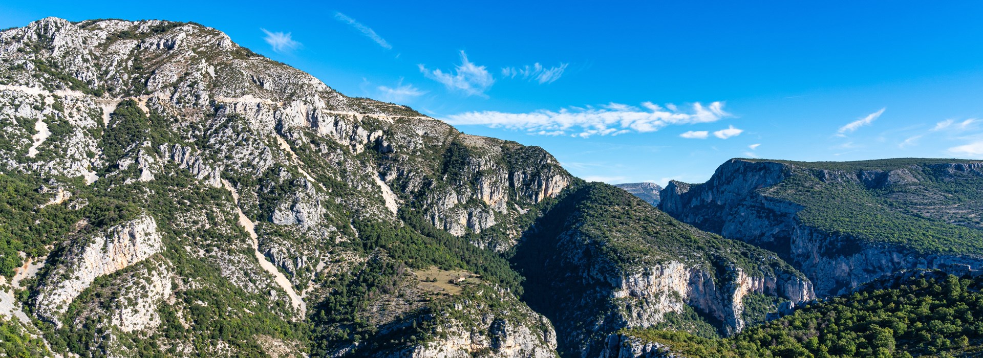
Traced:
MULTIPOLYGON (((65 249, 53 271, 45 277, 36 298, 38 315, 60 326, 58 316, 92 281, 160 252, 163 248, 160 239, 156 221, 146 216, 83 236, 65 249)), ((158 290, 163 291, 165 283, 159 285, 158 290)))

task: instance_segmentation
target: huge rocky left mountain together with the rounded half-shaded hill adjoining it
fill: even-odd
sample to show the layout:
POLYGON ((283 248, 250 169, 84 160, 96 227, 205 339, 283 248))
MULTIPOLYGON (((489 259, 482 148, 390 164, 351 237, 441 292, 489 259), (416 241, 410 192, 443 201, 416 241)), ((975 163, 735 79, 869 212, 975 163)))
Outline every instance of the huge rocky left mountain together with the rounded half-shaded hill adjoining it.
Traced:
POLYGON ((210 27, 0 31, 0 333, 22 356, 597 356, 814 297, 548 152, 210 27))

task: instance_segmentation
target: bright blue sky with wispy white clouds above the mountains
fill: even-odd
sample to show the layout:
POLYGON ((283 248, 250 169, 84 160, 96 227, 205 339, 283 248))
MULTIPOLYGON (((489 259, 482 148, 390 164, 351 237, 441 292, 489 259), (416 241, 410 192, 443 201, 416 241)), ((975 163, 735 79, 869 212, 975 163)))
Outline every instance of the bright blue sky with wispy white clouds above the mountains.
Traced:
POLYGON ((983 2, 7 2, 193 21, 351 96, 612 183, 725 160, 983 159, 983 2), (979 119, 979 120, 977 120, 979 119))

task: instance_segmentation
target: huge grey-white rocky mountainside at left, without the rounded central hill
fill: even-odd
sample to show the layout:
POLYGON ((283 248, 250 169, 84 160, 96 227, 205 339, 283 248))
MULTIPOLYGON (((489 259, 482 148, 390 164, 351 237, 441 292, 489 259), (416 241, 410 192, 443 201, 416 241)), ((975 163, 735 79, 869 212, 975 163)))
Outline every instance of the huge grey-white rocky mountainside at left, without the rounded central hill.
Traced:
POLYGON ((56 352, 554 355, 475 245, 504 250, 567 184, 542 149, 345 97, 195 24, 49 18, 0 32, 0 61, 0 268, 45 262, 18 296, 56 352), (482 280, 430 292, 413 272, 433 266, 482 280))

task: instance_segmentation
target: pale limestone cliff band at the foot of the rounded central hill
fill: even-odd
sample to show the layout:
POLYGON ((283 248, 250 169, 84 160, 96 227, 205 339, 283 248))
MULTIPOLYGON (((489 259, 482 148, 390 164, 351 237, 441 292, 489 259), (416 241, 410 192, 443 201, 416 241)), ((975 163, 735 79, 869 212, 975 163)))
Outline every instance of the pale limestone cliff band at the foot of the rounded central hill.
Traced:
MULTIPOLYGON (((665 322, 666 314, 682 314, 692 307, 704 313, 723 326, 725 335, 741 332, 745 327, 742 313, 743 298, 749 293, 761 293, 781 297, 792 302, 802 302, 815 298, 812 283, 797 276, 794 272, 770 274, 748 274, 732 262, 721 259, 716 268, 702 264, 667 261, 655 265, 641 266, 632 270, 617 268, 616 264, 598 260, 600 248, 580 251, 590 242, 577 242, 583 238, 570 236, 560 240, 557 247, 570 247, 561 250, 561 260, 570 270, 579 271, 577 284, 594 287, 581 297, 581 301, 564 309, 570 314, 558 319, 558 328, 564 330, 567 339, 579 342, 582 352, 593 352, 591 337, 598 333, 607 334, 620 328, 652 327, 665 322), (582 268, 580 270, 574 267, 582 268), (722 270, 722 271, 719 271, 722 270), (603 318, 596 331, 570 330, 565 320, 578 316, 574 312, 590 312, 601 309, 603 318)), ((564 265, 565 266, 565 265, 564 265)))

